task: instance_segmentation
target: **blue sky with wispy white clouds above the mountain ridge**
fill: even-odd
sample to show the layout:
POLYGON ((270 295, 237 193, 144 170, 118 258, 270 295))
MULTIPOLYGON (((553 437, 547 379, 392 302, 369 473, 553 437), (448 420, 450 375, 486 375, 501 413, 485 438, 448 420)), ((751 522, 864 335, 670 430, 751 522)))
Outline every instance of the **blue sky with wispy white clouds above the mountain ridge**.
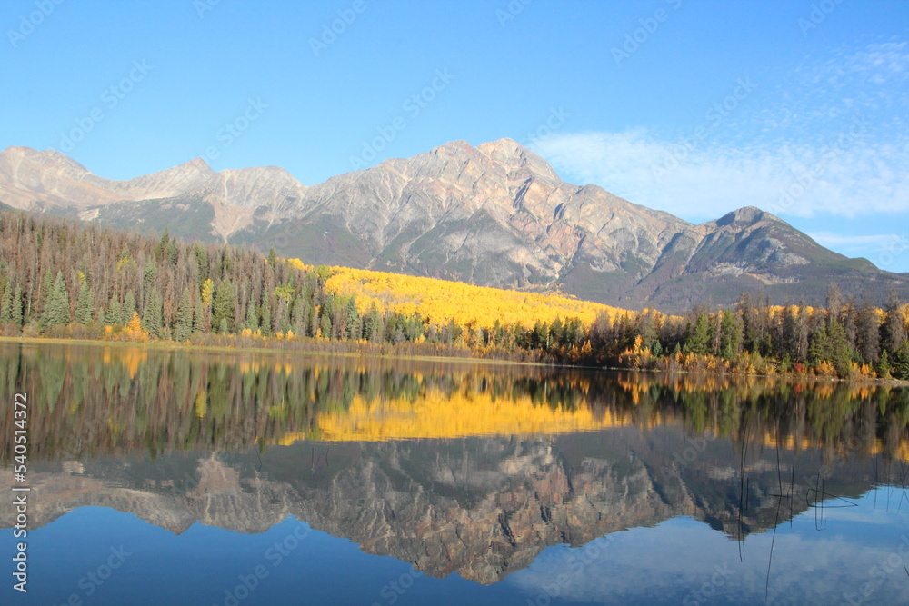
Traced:
POLYGON ((305 184, 510 137, 693 222, 909 271, 909 3, 6 0, 0 148, 305 184), (334 32, 332 29, 334 28, 334 32))

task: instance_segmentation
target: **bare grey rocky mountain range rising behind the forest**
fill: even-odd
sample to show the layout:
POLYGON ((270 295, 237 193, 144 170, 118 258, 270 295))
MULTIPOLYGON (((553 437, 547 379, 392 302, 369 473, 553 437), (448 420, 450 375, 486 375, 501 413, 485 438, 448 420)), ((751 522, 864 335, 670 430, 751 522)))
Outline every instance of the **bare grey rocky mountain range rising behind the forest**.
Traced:
POLYGON ((55 151, 0 152, 0 203, 36 213, 272 246, 306 263, 484 286, 561 290, 625 308, 680 312, 762 292, 774 303, 909 297, 909 274, 834 253, 745 207, 704 224, 565 183, 510 139, 455 141, 306 186, 276 166, 215 173, 196 159, 129 181, 55 151))

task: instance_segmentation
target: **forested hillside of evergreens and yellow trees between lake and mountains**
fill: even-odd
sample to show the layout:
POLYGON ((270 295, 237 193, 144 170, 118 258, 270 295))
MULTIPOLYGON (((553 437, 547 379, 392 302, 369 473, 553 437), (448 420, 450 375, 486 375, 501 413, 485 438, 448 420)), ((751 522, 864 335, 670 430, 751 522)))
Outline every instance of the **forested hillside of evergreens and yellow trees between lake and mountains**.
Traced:
POLYGON ((480 355, 714 373, 909 379, 909 309, 743 298, 687 316, 149 238, 0 212, 7 336, 480 355))

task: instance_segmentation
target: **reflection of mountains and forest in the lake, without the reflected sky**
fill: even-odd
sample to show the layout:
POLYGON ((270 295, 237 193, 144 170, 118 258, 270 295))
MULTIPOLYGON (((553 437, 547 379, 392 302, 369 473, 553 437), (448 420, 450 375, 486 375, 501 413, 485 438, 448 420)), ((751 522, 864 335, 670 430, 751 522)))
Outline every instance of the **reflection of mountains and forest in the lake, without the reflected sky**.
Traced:
POLYGON ((909 458, 909 392, 880 385, 8 343, 0 384, 29 393, 32 528, 85 506, 177 534, 294 516, 484 585, 679 516, 740 545, 824 523, 902 490, 909 458))

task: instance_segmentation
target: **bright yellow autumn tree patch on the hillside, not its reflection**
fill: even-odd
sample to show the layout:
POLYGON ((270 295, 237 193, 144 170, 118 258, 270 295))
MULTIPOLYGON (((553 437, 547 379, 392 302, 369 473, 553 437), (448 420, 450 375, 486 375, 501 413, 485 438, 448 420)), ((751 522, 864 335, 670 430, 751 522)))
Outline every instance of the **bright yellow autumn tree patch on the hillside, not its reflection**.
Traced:
MULTIPOLYGON (((298 259, 291 266, 313 271, 298 259)), ((578 301, 565 296, 545 293, 526 293, 485 286, 436 280, 397 273, 373 272, 347 267, 328 268, 325 291, 335 295, 355 295, 360 313, 373 305, 380 311, 403 315, 419 313, 432 323, 451 320, 461 326, 491 329, 500 324, 535 322, 551 323, 556 318, 578 318, 589 326, 598 313, 615 316, 624 310, 578 301)))

